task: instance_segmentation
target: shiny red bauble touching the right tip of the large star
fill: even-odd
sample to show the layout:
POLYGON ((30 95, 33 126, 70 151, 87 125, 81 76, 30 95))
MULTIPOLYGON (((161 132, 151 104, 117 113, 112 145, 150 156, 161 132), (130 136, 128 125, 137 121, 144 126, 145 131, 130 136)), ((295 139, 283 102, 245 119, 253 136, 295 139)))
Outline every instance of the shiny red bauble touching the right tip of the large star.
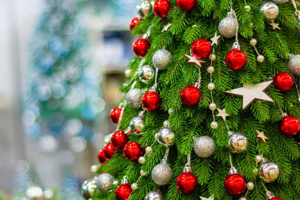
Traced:
POLYGON ((280 72, 273 77, 275 88, 281 92, 287 92, 292 88, 293 78, 289 73, 280 72))

